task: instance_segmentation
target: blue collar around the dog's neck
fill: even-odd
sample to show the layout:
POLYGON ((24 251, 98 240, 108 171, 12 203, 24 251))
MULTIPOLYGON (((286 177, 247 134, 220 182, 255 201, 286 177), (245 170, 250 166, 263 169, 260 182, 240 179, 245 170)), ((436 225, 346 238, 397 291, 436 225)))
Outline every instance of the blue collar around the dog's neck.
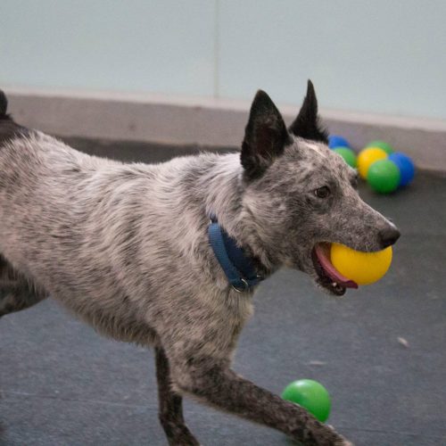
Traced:
POLYGON ((256 272, 252 260, 246 255, 244 249, 237 246, 234 238, 227 235, 213 215, 211 215, 208 235, 215 257, 219 260, 229 284, 235 291, 239 293, 249 291, 265 278, 256 272))

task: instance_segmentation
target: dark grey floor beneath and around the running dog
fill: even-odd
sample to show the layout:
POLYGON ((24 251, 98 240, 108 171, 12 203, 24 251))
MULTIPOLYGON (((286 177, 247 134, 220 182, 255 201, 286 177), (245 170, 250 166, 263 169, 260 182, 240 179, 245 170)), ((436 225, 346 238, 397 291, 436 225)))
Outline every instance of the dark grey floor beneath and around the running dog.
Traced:
MULTIPOLYGON (((174 153, 126 147, 133 160, 174 153)), ((330 423, 356 445, 446 445, 446 176, 420 173, 398 194, 362 194, 401 227, 389 274, 335 300, 301 273, 277 273, 260 287, 235 369, 273 392, 302 377, 325 384, 330 423)), ((0 321, 0 392, 2 445, 166 444, 152 352, 96 335, 54 301, 0 321)), ((292 444, 190 401, 186 419, 204 445, 292 444)))

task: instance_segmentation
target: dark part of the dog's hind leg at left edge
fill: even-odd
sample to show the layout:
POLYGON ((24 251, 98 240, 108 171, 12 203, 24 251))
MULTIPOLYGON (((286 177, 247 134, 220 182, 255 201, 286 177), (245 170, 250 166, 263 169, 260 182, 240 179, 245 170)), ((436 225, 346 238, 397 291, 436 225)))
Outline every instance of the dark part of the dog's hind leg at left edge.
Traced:
POLYGON ((0 318, 14 311, 25 310, 47 297, 0 254, 0 318))

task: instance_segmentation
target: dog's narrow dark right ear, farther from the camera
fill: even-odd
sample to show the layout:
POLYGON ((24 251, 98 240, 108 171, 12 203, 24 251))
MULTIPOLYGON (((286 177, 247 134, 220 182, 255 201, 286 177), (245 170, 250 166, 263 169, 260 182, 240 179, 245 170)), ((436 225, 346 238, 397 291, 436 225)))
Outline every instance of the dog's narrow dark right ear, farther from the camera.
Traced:
POLYGON ((307 95, 303 100, 301 111, 299 111, 289 130, 294 136, 328 144, 328 132, 319 123, 318 99, 310 79, 308 80, 307 95))

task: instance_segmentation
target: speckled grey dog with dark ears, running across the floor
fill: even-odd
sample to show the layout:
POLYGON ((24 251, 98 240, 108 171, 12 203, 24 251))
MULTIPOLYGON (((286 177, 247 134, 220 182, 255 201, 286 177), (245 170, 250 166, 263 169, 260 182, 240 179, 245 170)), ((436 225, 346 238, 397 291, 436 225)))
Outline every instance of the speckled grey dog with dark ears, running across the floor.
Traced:
POLYGON ((337 295, 348 284, 320 261, 327 243, 376 251, 396 241, 359 199, 356 171, 327 148, 310 82, 289 129, 260 91, 241 155, 157 165, 79 153, 17 125, 6 103, 0 94, 0 316, 51 295, 104 335, 153 346, 171 445, 198 444, 182 395, 304 444, 349 444, 231 370, 253 293, 228 284, 207 235, 213 214, 263 277, 297 268, 337 295))

